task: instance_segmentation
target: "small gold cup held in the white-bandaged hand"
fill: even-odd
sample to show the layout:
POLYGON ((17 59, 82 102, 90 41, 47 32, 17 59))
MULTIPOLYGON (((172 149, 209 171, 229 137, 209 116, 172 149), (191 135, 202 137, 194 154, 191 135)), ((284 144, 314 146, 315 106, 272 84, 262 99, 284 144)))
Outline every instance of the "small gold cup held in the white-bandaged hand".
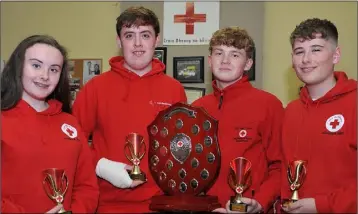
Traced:
POLYGON ((124 154, 127 159, 133 163, 133 169, 129 172, 129 176, 133 180, 146 181, 147 177, 139 168, 140 160, 144 157, 146 146, 143 136, 137 133, 130 133, 126 137, 124 145, 124 154))

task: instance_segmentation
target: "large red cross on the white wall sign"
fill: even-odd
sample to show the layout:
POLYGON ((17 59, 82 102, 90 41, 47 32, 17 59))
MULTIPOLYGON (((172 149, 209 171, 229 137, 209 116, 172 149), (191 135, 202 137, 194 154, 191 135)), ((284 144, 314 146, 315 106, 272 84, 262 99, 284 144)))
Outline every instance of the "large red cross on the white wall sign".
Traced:
POLYGON ((206 14, 195 14, 194 2, 186 2, 185 14, 174 15, 174 23, 185 23, 185 34, 194 34, 195 22, 206 22, 206 14))

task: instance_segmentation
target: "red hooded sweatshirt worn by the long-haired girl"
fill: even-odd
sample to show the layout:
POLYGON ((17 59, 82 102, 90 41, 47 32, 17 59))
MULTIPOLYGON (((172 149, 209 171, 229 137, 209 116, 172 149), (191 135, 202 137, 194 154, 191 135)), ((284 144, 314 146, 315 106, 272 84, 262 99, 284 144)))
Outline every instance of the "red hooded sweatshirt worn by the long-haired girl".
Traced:
POLYGON ((66 210, 93 213, 97 208, 99 191, 94 166, 87 161, 91 152, 86 138, 76 119, 61 112, 60 102, 48 103, 47 110, 36 112, 20 100, 1 112, 3 213, 44 213, 56 206, 42 186, 42 171, 47 168, 65 169, 69 180, 66 210))

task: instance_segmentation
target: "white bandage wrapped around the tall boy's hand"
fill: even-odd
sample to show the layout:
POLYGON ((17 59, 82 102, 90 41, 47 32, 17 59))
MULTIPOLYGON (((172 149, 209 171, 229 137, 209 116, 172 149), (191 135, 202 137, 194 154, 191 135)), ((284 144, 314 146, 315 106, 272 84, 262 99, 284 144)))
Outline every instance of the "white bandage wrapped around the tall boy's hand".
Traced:
POLYGON ((126 164, 101 158, 96 166, 96 174, 118 188, 130 188, 132 179, 129 177, 126 164))

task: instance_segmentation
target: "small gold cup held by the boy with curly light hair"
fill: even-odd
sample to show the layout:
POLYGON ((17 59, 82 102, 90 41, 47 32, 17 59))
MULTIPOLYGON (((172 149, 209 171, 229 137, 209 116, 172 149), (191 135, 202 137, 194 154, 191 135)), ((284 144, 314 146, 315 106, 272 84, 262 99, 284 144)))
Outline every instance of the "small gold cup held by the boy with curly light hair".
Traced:
POLYGON ((252 182, 251 162, 244 157, 232 160, 228 181, 230 187, 236 192, 236 195, 230 198, 230 210, 247 212, 247 204, 243 203, 241 198, 252 182))

